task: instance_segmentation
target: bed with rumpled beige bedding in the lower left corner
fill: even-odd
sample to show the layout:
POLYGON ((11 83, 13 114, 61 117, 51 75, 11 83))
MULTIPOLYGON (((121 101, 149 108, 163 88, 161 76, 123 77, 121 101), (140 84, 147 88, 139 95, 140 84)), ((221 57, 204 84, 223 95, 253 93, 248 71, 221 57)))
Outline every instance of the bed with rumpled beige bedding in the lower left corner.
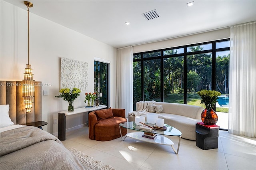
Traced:
POLYGON ((86 169, 83 162, 48 132, 31 126, 12 127, 1 132, 1 170, 86 169))

